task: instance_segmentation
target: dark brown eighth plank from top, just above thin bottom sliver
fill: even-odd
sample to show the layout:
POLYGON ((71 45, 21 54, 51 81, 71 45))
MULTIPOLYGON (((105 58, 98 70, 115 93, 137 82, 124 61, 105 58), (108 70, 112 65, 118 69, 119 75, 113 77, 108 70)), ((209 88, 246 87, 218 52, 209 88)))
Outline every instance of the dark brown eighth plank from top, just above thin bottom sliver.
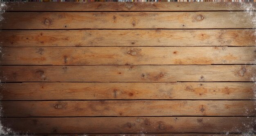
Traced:
POLYGON ((0 118, 29 134, 255 132, 255 117, 0 118), (68 123, 67 123, 68 122, 68 123), (203 129, 202 129, 203 128, 203 129))

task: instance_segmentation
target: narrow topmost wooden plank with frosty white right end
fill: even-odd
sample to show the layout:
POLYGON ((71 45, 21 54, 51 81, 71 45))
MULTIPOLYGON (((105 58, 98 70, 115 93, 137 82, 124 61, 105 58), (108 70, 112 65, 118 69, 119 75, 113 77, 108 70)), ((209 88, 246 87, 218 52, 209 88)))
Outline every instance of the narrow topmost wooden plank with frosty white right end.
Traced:
POLYGON ((254 2, 46 2, 7 3, 6 11, 244 11, 254 2))

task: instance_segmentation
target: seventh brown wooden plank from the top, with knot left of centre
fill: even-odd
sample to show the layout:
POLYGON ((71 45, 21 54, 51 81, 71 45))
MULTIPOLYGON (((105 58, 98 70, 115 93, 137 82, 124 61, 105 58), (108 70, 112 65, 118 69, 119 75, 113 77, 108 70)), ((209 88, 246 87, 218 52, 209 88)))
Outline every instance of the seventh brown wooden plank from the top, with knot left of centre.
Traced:
POLYGON ((255 116, 254 100, 2 101, 2 117, 255 116))

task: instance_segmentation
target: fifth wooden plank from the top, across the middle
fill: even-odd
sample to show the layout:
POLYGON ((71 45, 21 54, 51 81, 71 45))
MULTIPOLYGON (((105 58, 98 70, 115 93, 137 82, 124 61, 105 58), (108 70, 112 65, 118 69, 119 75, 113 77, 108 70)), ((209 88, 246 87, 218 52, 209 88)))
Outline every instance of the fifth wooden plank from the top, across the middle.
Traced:
POLYGON ((254 81, 255 73, 254 65, 0 66, 2 82, 254 81))

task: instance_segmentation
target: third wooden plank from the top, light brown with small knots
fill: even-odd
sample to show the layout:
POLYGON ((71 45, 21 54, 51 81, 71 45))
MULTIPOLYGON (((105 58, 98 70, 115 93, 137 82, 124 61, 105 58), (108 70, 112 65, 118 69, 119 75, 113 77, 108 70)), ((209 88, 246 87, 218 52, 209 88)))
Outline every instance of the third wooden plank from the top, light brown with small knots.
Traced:
POLYGON ((255 46, 253 29, 6 30, 2 47, 255 46))

